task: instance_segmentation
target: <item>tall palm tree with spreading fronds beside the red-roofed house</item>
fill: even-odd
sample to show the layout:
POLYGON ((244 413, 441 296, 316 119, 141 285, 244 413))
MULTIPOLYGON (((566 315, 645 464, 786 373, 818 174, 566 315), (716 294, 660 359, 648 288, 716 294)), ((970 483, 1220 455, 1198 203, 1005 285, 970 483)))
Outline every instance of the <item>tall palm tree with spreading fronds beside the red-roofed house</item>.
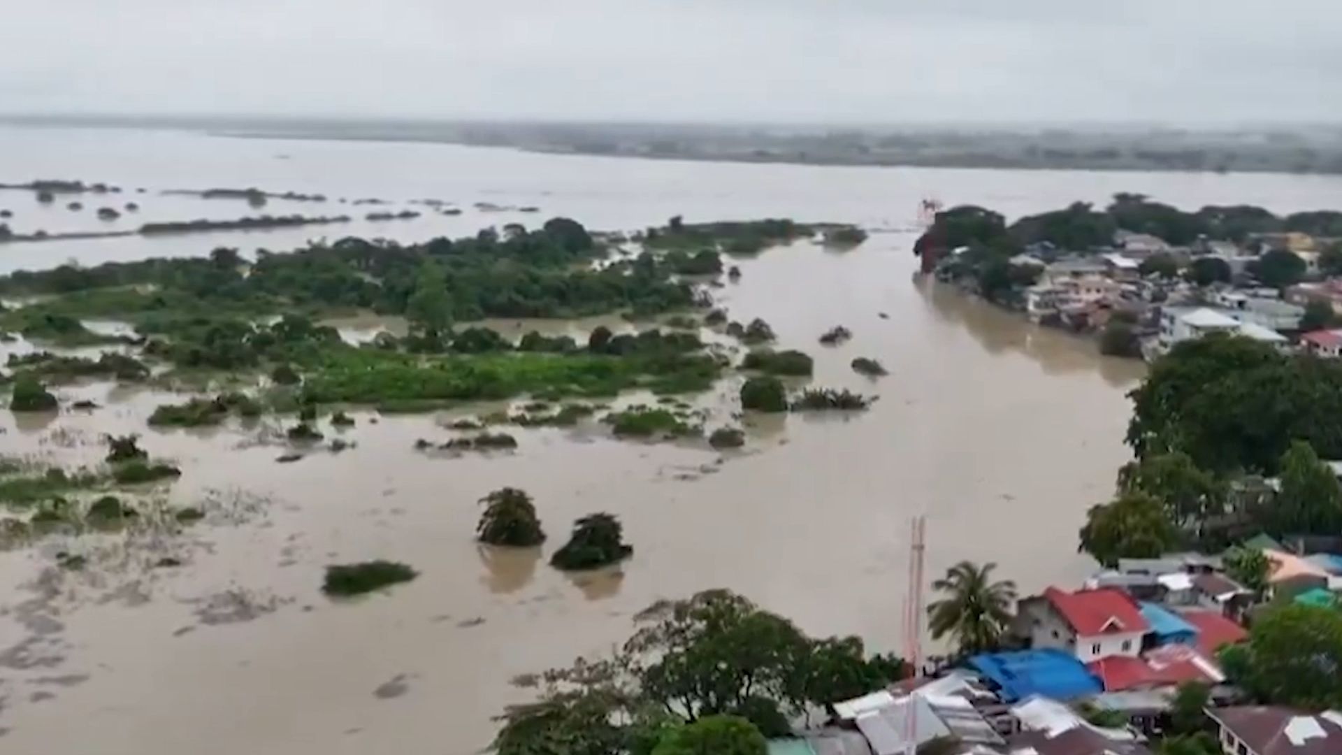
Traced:
POLYGON ((934 639, 950 634, 962 656, 997 648, 1012 618, 1016 583, 992 580, 997 564, 978 567, 960 562, 946 576, 933 582, 933 590, 946 595, 927 606, 929 629, 934 639))

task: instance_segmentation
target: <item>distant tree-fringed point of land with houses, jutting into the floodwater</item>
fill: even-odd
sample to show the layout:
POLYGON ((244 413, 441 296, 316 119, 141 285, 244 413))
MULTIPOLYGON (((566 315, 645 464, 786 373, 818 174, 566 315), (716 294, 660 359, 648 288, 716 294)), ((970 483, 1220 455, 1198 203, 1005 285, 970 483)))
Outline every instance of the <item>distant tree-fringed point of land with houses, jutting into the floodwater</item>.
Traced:
POLYGON ((1342 238, 1325 235, 1342 234, 1342 227, 1331 219, 1314 223, 1325 231, 1315 234, 1243 231, 1202 216, 1244 208, 1204 208, 1185 214, 1193 228, 1236 238, 1189 238, 1186 224, 1177 224, 1170 235, 1178 238, 1172 240, 1122 223, 1134 212, 1141 219, 1146 218, 1142 212, 1159 210, 1177 218, 1180 211, 1125 196, 1119 195, 1107 215, 1078 204, 1002 226, 998 238, 950 230, 954 240, 965 243, 945 249, 935 249, 939 231, 934 228, 917 251, 925 254, 925 270, 1020 309, 1035 322, 1103 333, 1104 351, 1115 356, 1154 359, 1181 341, 1217 332, 1283 351, 1342 355, 1342 238), (1104 223, 1076 232, 1071 226, 1059 230, 1059 218, 1068 223, 1100 218, 1104 223), (1040 223, 1044 230, 1039 230, 1040 223), (1221 231, 1223 226, 1231 230, 1221 231), (1013 254, 1008 257, 1008 251, 1013 254))

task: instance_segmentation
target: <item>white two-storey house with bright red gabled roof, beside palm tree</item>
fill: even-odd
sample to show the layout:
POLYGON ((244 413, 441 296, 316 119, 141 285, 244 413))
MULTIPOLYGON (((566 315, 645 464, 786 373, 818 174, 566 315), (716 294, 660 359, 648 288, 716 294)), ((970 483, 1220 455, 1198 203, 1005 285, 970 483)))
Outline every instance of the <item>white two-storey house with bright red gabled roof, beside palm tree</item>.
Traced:
POLYGON ((1017 630, 1031 648, 1052 648, 1083 664, 1111 656, 1135 658, 1150 623, 1131 595, 1115 588, 1066 592, 1056 587, 1017 606, 1017 630))

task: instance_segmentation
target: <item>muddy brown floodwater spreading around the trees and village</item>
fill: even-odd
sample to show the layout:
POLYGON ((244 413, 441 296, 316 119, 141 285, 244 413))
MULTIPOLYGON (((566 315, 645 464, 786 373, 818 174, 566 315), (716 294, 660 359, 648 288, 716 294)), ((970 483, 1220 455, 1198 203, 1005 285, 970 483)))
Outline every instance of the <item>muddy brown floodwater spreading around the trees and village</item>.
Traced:
MULTIPOLYGON (((898 650, 907 529, 919 513, 930 575, 972 559, 997 562, 1025 591, 1075 583, 1090 568, 1075 552, 1076 528, 1125 461, 1123 394, 1142 367, 914 281, 909 227, 918 200, 982 203, 1012 216, 1115 191, 1278 211, 1342 200, 1342 180, 1323 177, 643 163, 134 130, 0 129, 0 181, 144 185, 141 214, 180 212, 174 219, 252 212, 156 191, 256 185, 466 208, 341 230, 404 240, 557 214, 600 230, 676 214, 890 230, 845 253, 808 243, 768 250, 741 262, 739 283, 714 292, 733 318, 764 317, 780 347, 812 353, 816 384, 880 395, 860 415, 746 418, 741 453, 621 442, 580 427, 510 430, 521 443, 513 453, 431 455, 412 450, 413 441, 451 437, 443 425, 464 411, 353 412, 357 426, 338 433, 353 449, 276 463, 287 449, 275 420, 146 429, 156 403, 180 400, 153 390, 70 386, 63 399, 103 408, 17 422, 0 412, 0 454, 54 463, 94 463, 102 433, 142 433, 144 447, 184 472, 169 502, 207 512, 176 533, 54 537, 0 553, 7 754, 474 752, 494 731, 490 716, 530 697, 510 678, 601 653, 654 599, 709 587, 737 590, 813 634, 860 634, 872 649, 898 650), (542 212, 478 212, 475 202, 542 212), (816 343, 840 324, 851 341, 816 343), (856 356, 879 359, 890 376, 855 375, 856 356), (472 541, 478 498, 505 485, 535 498, 550 533, 544 549, 472 541), (546 558, 569 524, 595 510, 620 516, 633 558, 592 575, 552 570, 546 558), (87 555, 89 566, 56 568, 62 549, 87 555), (165 555, 181 566, 154 567, 165 555), (353 602, 321 595, 326 564, 374 558, 407 562, 420 576, 353 602)), ((38 212, 32 195, 0 192, 0 207, 15 211, 16 230, 36 227, 25 219, 38 212)), ((54 230, 48 220, 43 227, 54 230)), ((205 254, 220 243, 279 250, 310 231, 11 245, 0 247, 0 269, 205 254)), ((341 325, 353 339, 395 328, 341 325)), ((695 399, 711 412, 710 427, 731 420, 725 407, 738 380, 695 399)), ((322 430, 337 434, 325 422, 322 430)))

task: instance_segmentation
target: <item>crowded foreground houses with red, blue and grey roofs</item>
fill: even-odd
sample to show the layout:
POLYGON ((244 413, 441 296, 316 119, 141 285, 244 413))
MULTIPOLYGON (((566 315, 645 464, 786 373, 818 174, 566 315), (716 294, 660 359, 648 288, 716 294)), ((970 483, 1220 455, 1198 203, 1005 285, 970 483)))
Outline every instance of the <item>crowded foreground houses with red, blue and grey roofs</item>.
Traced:
MULTIPOLYGON (((1011 645, 832 707, 833 723, 770 755, 1154 755, 1181 685, 1209 689, 1206 719, 1225 755, 1339 755, 1342 711, 1252 705, 1217 652, 1248 637, 1255 605, 1337 607, 1342 555, 1257 536, 1243 547, 1270 564, 1264 595, 1237 584, 1220 556, 1122 559, 1078 588, 1017 603, 1011 645), (1099 715, 1096 715, 1099 713, 1099 715)), ((1342 670, 1339 670, 1342 673, 1342 670)))

